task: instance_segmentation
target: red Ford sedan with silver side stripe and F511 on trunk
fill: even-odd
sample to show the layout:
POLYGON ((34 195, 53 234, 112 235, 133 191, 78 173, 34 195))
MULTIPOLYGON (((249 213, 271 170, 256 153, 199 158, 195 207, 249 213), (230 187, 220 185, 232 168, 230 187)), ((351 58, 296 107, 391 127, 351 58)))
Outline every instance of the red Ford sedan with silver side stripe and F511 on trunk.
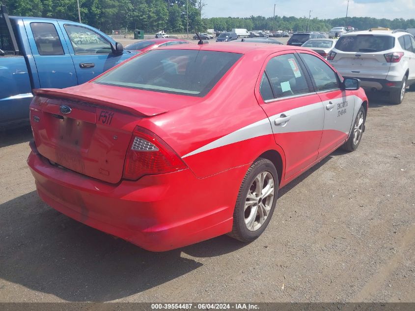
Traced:
POLYGON ((47 204, 144 249, 249 242, 279 188, 359 146, 359 85, 300 47, 152 50, 83 85, 35 90, 28 165, 47 204))

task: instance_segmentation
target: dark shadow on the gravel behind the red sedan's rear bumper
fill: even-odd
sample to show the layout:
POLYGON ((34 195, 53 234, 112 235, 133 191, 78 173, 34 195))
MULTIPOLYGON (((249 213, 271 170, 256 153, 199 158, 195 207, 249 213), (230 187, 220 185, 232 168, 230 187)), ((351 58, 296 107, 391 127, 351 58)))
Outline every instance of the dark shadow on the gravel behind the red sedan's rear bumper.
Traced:
POLYGON ((68 301, 127 297, 202 266, 182 252, 209 257, 245 245, 221 236, 179 250, 147 252, 60 214, 35 191, 0 204, 0 228, 0 278, 68 301))

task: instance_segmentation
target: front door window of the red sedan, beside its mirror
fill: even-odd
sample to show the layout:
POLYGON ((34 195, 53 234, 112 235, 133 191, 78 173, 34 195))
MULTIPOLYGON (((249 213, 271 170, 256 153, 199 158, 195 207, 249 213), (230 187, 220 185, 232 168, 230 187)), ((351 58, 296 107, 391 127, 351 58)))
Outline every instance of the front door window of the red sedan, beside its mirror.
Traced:
POLYGON ((317 86, 317 90, 325 91, 339 87, 336 73, 323 60, 305 53, 300 54, 300 56, 307 65, 308 71, 317 86))

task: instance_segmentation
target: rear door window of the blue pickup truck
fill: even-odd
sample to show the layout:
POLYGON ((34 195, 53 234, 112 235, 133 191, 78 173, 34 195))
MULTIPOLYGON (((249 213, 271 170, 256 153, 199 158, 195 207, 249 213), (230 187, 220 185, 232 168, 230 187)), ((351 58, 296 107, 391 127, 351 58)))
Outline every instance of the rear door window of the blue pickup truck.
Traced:
POLYGON ((30 28, 39 55, 63 55, 62 43, 60 43, 54 24, 31 23, 30 28))

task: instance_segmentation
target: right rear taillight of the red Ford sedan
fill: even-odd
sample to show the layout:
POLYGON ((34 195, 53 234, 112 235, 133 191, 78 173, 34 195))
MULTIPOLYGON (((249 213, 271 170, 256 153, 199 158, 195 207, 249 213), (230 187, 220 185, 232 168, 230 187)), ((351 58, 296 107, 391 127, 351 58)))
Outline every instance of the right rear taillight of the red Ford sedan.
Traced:
POLYGON ((136 127, 127 151, 123 178, 137 180, 144 175, 165 174, 187 169, 169 145, 153 132, 136 127))

